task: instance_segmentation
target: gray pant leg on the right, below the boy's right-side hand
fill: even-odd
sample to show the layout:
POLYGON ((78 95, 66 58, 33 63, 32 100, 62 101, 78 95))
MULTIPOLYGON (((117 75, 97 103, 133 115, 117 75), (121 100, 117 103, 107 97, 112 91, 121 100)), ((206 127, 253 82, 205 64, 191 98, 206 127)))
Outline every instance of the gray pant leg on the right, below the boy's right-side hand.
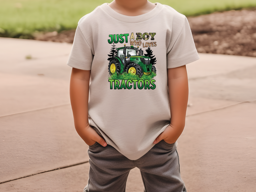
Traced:
POLYGON ((135 160, 135 165, 141 170, 146 192, 186 191, 180 176, 179 156, 175 144, 160 141, 144 156, 135 160))

